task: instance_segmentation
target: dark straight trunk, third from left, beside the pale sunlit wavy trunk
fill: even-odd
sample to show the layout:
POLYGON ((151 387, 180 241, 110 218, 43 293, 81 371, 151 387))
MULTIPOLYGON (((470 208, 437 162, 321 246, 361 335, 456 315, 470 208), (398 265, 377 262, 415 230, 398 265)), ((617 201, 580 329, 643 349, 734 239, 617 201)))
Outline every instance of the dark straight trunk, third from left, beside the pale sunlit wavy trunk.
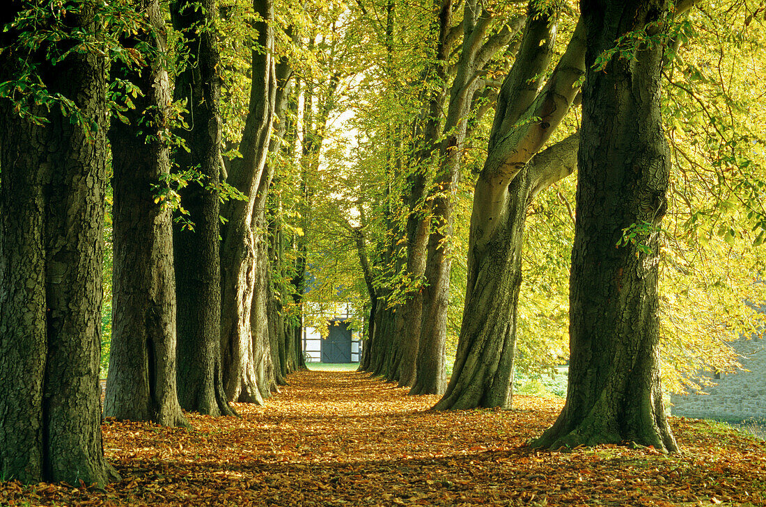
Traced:
POLYGON ((210 415, 236 414, 224 393, 221 372, 221 265, 218 252, 221 182, 219 56, 215 42, 215 0, 176 0, 172 20, 188 50, 185 68, 175 78, 175 99, 187 99, 188 129, 178 129, 187 153, 178 150, 181 171, 197 167, 200 184, 181 192, 193 230, 173 235, 177 297, 177 379, 182 408, 210 415), (191 112, 194 113, 193 119, 191 112))

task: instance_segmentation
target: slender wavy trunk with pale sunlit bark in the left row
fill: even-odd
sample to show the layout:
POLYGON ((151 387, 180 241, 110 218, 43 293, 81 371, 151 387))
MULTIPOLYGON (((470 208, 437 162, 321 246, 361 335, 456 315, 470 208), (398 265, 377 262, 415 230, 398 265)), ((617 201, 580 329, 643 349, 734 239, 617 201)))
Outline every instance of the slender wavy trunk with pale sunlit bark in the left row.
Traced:
POLYGON ((231 161, 228 177, 228 183, 248 199, 231 200, 223 210, 227 223, 221 245, 221 350, 228 399, 261 404, 263 386, 257 384, 255 371, 260 359, 254 355, 253 342, 262 339, 266 326, 266 275, 260 272, 266 265, 263 242, 259 232, 254 233, 254 214, 257 217, 257 193, 269 151, 277 86, 271 28, 273 2, 255 0, 253 7, 263 21, 256 23, 258 38, 251 53, 250 104, 239 146, 242 158, 231 161), (259 312, 262 310, 257 316, 250 314, 254 301, 260 301, 257 308, 259 312), (256 323, 257 329, 253 329, 251 323, 256 323))

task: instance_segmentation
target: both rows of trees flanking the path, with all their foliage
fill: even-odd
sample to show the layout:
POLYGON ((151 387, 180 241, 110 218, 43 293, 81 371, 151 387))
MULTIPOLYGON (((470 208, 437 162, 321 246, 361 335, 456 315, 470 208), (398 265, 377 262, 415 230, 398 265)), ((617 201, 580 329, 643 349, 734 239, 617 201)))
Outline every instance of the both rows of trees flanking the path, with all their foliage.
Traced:
MULTIPOLYGON (((183 425, 182 408, 262 403, 303 366, 302 305, 339 293, 367 301, 362 370, 444 395, 437 408, 507 408, 515 369, 565 356, 571 285, 568 401, 537 445, 674 450, 660 362, 723 369, 732 357, 715 340, 752 325, 742 301, 762 299, 758 254, 743 245, 766 230, 759 138, 739 127, 740 90, 722 74, 749 40, 720 50, 709 78, 732 24, 704 9, 692 22, 692 2, 11 5, 0 15, 5 477, 115 476, 98 402, 109 168, 110 417, 183 425), (354 115, 336 136, 343 110, 354 115), (686 115, 673 151, 663 111, 686 115), (720 262, 694 268, 702 239, 731 247, 715 258, 735 258, 738 278, 720 262), (686 294, 663 302, 663 277, 686 294), (685 323, 701 293, 705 309, 741 318, 685 323), (694 329, 660 356, 674 322, 694 329)), ((760 22, 746 3, 721 9, 760 22)))

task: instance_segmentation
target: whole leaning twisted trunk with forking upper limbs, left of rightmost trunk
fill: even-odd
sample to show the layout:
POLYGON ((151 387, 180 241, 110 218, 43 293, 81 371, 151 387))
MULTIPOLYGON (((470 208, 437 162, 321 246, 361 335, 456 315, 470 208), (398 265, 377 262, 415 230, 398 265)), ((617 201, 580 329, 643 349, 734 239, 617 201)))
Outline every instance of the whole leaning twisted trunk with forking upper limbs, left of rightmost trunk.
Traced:
POLYGON ((535 154, 578 92, 583 28, 578 24, 542 86, 556 23, 554 13, 535 12, 532 4, 530 9, 516 62, 502 83, 489 153, 476 182, 463 323, 452 378, 437 409, 510 407, 525 211, 536 193, 575 168, 576 138, 535 154), (532 116, 540 120, 520 122, 532 116))

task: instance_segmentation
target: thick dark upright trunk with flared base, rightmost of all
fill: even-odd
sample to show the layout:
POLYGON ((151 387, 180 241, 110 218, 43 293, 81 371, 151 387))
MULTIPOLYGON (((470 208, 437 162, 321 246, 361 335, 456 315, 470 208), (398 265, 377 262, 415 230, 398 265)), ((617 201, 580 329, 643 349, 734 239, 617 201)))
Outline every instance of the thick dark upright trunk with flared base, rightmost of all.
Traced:
POLYGON ((662 0, 581 4, 588 74, 578 158, 567 401, 535 447, 632 440, 677 450, 660 385, 657 278, 669 150, 660 112, 663 44, 594 61, 627 33, 661 38, 662 0), (634 239, 625 244, 626 232, 634 239))

